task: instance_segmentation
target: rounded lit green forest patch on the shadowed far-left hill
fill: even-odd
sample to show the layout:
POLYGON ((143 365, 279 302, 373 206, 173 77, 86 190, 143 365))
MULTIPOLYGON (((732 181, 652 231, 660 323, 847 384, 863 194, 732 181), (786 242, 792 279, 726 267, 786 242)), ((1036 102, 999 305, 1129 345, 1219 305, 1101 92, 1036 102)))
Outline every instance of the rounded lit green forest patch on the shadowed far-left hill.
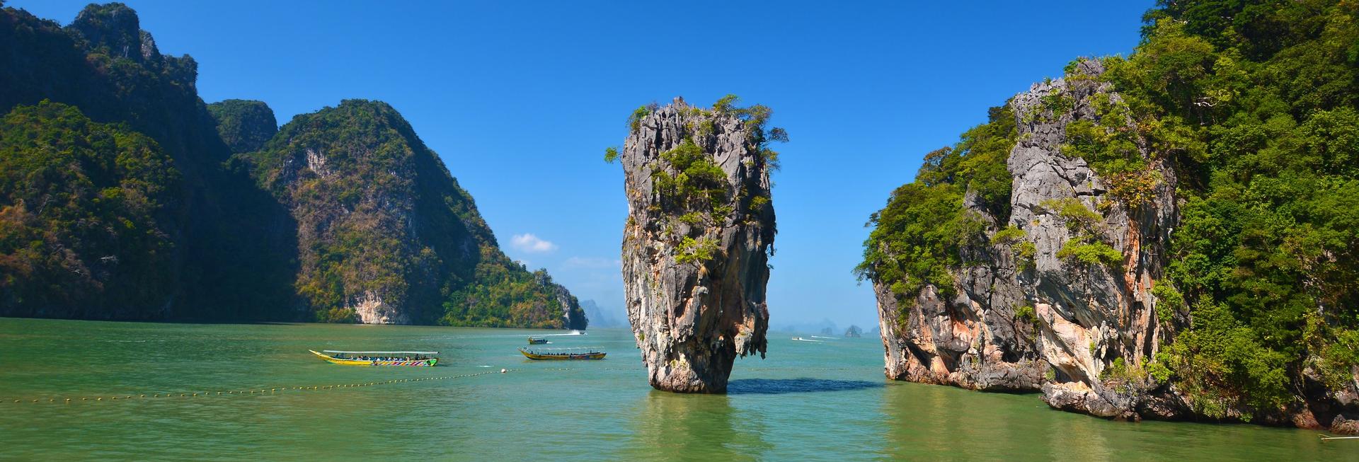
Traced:
POLYGON ((179 174, 149 137, 41 102, 0 120, 0 313, 94 318, 164 306, 179 174))

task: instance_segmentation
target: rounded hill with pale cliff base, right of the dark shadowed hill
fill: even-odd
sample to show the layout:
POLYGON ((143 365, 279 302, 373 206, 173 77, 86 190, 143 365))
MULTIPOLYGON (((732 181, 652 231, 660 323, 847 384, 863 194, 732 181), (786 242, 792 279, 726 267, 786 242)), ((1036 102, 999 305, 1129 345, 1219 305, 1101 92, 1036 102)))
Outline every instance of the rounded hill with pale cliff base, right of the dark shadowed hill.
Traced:
MULTIPOLYGON (((224 133, 251 132, 222 114, 236 122, 224 133)), ((386 103, 298 116, 238 160, 296 220, 296 289, 319 321, 587 325, 571 292, 500 251, 472 196, 386 103)))

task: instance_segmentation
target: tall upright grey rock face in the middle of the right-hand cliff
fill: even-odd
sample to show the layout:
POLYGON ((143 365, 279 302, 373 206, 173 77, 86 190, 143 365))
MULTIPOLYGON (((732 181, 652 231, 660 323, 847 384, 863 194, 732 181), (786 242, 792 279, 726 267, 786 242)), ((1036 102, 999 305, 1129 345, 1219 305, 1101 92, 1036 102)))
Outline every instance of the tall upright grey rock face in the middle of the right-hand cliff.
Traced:
MULTIPOLYGON (((1125 107, 1108 83, 1095 80, 1102 72, 1098 61, 1080 61, 1068 79, 1034 86, 1012 102, 1015 117, 1031 122, 1019 124, 1021 139, 1008 160, 1014 175, 1010 224, 1025 230, 1026 242, 1037 249, 1033 269, 1018 281, 1038 318, 1040 355, 1057 370, 1056 379, 1042 386, 1048 404, 1106 417, 1170 417, 1178 409, 1166 409, 1148 395, 1151 390, 1124 386, 1120 393, 1110 385, 1127 383, 1101 380, 1116 360, 1142 370, 1173 332, 1176 319, 1157 319, 1151 289, 1165 276, 1166 247, 1178 216, 1176 175, 1163 162, 1148 166, 1155 185, 1129 200, 1112 194, 1113 186, 1083 159, 1063 154, 1064 145, 1076 143, 1068 139, 1074 121, 1135 132, 1125 111, 1098 107, 1125 107), (1053 95, 1075 103, 1055 120, 1045 107, 1045 98, 1053 95), (1076 202, 1098 219, 1082 224, 1055 209, 1076 202), (1061 250, 1082 239, 1082 232, 1116 250, 1118 258, 1098 264, 1063 258, 1061 250)), ((1137 158, 1151 159, 1146 140, 1133 136, 1132 141, 1137 158)))

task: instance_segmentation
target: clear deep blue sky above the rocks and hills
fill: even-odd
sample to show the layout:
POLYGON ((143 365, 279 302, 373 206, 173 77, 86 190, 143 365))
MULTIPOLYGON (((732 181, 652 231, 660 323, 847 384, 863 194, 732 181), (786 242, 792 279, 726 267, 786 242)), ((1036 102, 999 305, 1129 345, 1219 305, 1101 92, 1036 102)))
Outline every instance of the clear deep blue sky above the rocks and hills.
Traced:
MULTIPOLYGON (((285 124, 391 103, 477 200, 501 247, 622 317, 622 173, 603 148, 648 102, 775 110, 771 325, 877 326, 863 227, 921 156, 1078 56, 1127 54, 1139 1, 125 1, 198 92, 285 124)), ((86 1, 7 5, 69 23, 86 1)))

